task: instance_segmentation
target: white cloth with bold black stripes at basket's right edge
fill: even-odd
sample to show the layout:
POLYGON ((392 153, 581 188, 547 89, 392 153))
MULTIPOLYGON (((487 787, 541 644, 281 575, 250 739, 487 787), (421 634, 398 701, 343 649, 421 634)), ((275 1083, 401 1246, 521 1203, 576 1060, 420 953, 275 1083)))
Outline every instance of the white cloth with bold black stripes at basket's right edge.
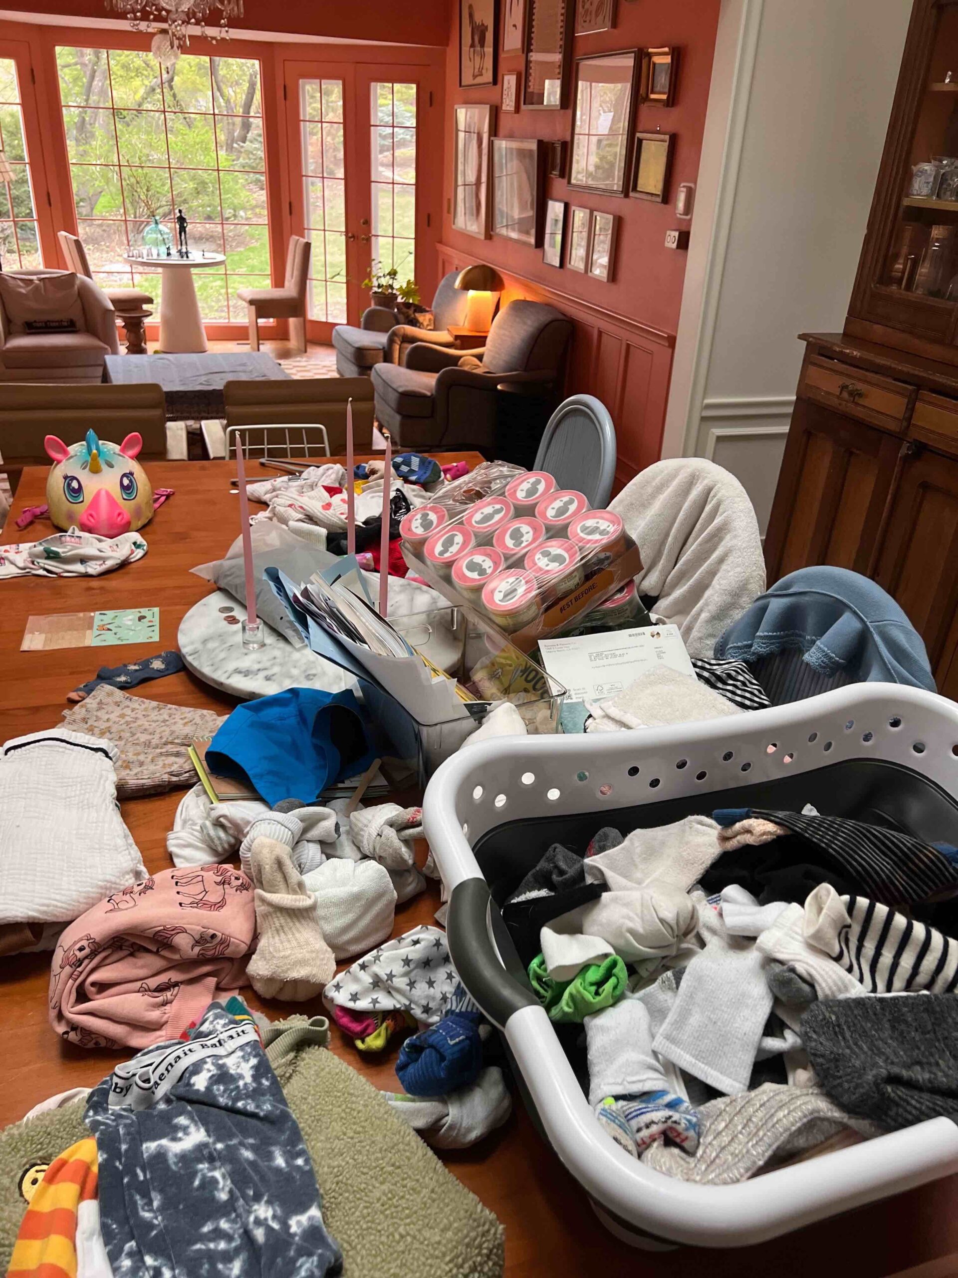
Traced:
POLYGON ((870 994, 953 994, 958 987, 958 942, 935 928, 828 884, 811 893, 805 915, 806 939, 870 994))

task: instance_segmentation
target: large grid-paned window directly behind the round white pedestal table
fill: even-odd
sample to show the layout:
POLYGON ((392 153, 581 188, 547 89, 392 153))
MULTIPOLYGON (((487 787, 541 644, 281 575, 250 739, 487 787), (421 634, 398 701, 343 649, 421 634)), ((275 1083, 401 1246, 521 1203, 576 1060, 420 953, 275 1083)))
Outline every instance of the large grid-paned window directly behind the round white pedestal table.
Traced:
POLYGON ((59 47, 66 147, 79 236, 102 286, 155 291, 156 271, 124 262, 157 217, 190 249, 226 254, 194 273, 207 321, 247 320, 243 288, 270 288, 259 63, 184 55, 163 69, 148 52, 59 47))

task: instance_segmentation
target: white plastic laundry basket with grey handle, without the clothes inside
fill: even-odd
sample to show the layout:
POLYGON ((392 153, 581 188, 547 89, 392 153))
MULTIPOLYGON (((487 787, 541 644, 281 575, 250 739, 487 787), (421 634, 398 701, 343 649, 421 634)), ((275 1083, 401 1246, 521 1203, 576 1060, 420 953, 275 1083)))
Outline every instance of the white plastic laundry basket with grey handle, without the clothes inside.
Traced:
POLYGON ((581 843, 600 826, 654 827, 728 806, 878 810, 918 837, 954 843, 955 796, 958 707, 893 684, 704 723, 497 739, 439 768, 423 812, 451 892, 452 960, 502 1030, 553 1150, 618 1236, 640 1246, 648 1235, 700 1246, 760 1242, 958 1171, 958 1126, 932 1118, 740 1185, 695 1185, 645 1167, 597 1122, 487 878, 502 881, 510 864, 519 878, 551 842, 581 843))

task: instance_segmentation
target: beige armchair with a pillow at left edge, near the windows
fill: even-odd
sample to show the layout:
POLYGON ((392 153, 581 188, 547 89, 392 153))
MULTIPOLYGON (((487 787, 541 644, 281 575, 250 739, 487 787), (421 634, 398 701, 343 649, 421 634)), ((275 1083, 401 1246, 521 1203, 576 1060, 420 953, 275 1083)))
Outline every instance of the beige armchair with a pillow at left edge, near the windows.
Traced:
POLYGON ((119 355, 116 312, 73 271, 0 273, 0 382, 101 382, 119 355), (28 332, 29 321, 72 320, 69 332, 28 332))

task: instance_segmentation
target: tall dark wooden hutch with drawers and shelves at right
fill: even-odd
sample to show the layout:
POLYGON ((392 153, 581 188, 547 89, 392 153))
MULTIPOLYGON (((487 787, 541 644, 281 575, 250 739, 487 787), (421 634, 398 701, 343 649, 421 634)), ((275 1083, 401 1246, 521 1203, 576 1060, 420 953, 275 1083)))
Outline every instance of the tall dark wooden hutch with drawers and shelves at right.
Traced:
POLYGON ((874 578, 958 699, 958 0, 915 3, 844 332, 801 340, 769 581, 874 578))

